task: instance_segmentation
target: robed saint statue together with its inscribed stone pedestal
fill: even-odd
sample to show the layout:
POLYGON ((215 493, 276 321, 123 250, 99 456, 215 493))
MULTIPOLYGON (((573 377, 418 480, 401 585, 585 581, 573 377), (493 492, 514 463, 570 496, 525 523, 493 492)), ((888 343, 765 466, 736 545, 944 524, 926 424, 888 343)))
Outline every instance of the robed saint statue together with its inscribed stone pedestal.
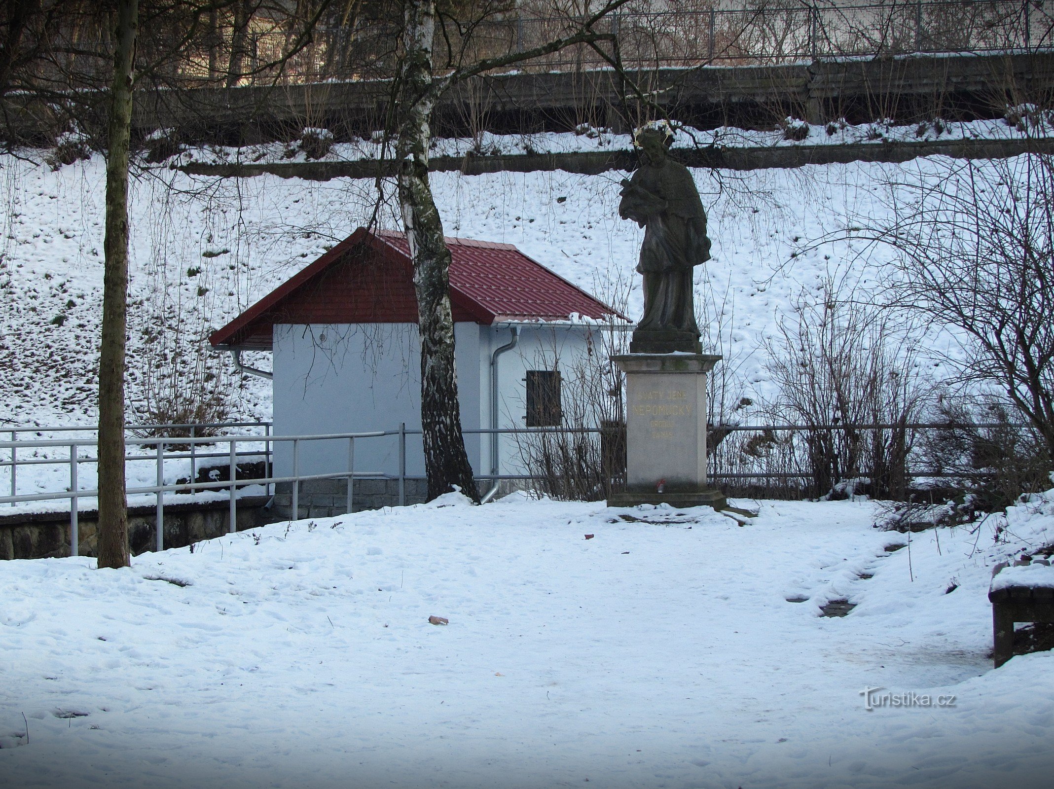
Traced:
POLYGON ((669 140, 661 126, 640 130, 640 166, 622 182, 619 215, 644 228, 644 314, 629 353, 612 357, 626 374, 626 489, 608 505, 722 509, 706 476, 706 373, 721 357, 702 353, 691 281, 710 240, 691 173, 669 157, 669 140))

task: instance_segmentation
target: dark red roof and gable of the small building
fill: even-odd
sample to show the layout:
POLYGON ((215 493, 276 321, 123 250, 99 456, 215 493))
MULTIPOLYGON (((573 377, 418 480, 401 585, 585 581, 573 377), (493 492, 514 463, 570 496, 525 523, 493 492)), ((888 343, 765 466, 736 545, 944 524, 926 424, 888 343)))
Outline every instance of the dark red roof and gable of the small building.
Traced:
MULTIPOLYGON (((447 238, 455 321, 626 318, 512 244, 447 238)), ((209 341, 270 350, 275 323, 416 323, 410 249, 402 233, 359 228, 209 341)))

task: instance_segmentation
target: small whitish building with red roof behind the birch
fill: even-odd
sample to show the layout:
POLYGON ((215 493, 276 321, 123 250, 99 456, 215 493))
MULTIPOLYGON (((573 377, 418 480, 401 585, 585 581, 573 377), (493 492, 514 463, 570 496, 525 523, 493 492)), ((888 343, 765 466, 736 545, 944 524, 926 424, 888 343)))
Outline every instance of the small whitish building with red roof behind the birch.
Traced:
MULTIPOLYGON (((628 321, 511 244, 446 241, 469 460, 477 476, 521 473, 514 438, 472 431, 559 425, 561 369, 599 349, 599 331, 628 321)), ((357 230, 210 340, 236 359, 241 351, 272 352, 275 435, 398 431, 403 425, 410 431, 405 473, 424 476, 414 432, 421 430, 417 304, 403 234, 357 230)), ((298 443, 299 474, 347 470, 346 439, 298 443)), ((357 439, 356 472, 397 476, 398 443, 397 436, 357 439)), ((293 473, 292 455, 290 443, 277 445, 276 476, 293 473)), ((329 493, 343 486, 329 486, 329 493)), ((391 504, 390 496, 377 498, 376 485, 356 484, 356 496, 360 487, 363 504, 391 504)), ((408 484, 407 500, 421 500, 424 490, 408 484)))

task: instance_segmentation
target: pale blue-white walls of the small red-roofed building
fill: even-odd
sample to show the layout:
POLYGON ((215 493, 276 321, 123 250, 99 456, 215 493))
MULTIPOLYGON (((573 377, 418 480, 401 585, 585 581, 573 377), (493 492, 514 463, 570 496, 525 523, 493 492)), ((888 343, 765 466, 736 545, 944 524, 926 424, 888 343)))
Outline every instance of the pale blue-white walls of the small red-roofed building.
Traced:
MULTIPOLYGON (((526 425, 528 370, 569 369, 586 353, 585 328, 521 327, 518 347, 499 357, 499 427, 526 425)), ((508 328, 456 323, 457 390, 465 430, 490 427, 490 359, 508 328)), ((414 323, 274 327, 275 435, 421 429, 421 344, 414 323)), ((566 386, 565 374, 565 386, 566 386)), ((477 474, 490 472, 490 439, 465 436, 477 474)), ((515 438, 499 439, 501 473, 522 473, 515 438)), ((344 471, 348 441, 301 441, 301 474, 344 471)), ((292 446, 279 443, 275 473, 292 473, 292 446)), ((398 473, 397 437, 355 441, 356 471, 398 473)), ((419 435, 407 438, 407 474, 423 475, 419 435)))

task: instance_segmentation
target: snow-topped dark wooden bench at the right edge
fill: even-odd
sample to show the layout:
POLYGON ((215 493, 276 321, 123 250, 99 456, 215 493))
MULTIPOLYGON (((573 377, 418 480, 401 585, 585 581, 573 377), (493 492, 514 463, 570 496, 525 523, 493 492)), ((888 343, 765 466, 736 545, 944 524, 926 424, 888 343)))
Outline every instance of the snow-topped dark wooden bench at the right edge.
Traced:
POLYGON ((1054 567, 1045 559, 1014 565, 996 565, 989 588, 996 668, 1014 656, 1015 623, 1054 623, 1054 567))

